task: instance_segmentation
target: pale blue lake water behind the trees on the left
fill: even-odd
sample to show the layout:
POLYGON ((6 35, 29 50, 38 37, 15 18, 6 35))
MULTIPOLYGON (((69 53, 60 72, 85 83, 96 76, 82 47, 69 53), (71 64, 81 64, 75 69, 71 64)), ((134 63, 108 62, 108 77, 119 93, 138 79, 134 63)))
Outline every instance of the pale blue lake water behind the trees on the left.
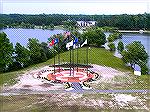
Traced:
POLYGON ((40 42, 47 42, 48 38, 54 34, 63 33, 63 30, 42 30, 42 29, 4 29, 0 32, 5 32, 10 39, 10 42, 15 44, 19 42, 26 46, 29 38, 37 38, 40 42))

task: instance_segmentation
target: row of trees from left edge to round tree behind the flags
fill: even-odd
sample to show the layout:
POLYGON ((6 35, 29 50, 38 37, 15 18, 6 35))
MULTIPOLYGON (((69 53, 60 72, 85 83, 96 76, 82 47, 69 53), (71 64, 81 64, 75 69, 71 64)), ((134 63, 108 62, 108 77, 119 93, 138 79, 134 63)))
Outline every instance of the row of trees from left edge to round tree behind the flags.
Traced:
MULTIPOLYGON (((89 40, 89 44, 98 47, 106 42, 104 33, 99 30, 91 30, 83 34, 72 31, 71 34, 78 38, 80 44, 85 41, 84 37, 89 40), (90 33, 92 34, 90 35, 90 33)), ((63 34, 57 34, 51 36, 49 42, 55 38, 59 38, 59 44, 51 48, 48 45, 49 43, 40 43, 36 38, 29 38, 27 47, 24 47, 18 42, 13 46, 7 35, 4 32, 0 33, 0 72, 19 70, 33 64, 45 62, 55 55, 67 51, 66 43, 74 37, 70 35, 66 38, 63 34)))

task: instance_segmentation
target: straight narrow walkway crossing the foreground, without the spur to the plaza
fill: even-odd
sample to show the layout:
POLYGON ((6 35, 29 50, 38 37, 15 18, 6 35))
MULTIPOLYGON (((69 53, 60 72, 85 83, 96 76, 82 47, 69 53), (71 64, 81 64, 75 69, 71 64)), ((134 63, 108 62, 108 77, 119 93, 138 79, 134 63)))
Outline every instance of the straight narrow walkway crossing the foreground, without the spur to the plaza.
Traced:
POLYGON ((97 94, 97 93, 102 93, 102 94, 111 94, 111 93, 144 93, 144 94, 150 94, 150 90, 95 90, 95 89, 90 89, 90 90, 84 90, 84 89, 74 89, 70 91, 65 91, 65 90, 50 90, 50 91, 26 91, 26 90, 11 90, 11 91, 3 91, 0 93, 0 96, 4 95, 19 95, 19 94, 59 94, 59 93, 88 93, 88 94, 97 94))

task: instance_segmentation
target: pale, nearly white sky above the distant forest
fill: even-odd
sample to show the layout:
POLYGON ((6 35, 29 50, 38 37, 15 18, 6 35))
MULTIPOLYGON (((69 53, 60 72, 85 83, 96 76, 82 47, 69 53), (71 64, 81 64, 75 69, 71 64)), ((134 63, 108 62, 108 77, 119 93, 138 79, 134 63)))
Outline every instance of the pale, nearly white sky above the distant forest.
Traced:
POLYGON ((150 0, 0 0, 1 14, 143 14, 150 0))

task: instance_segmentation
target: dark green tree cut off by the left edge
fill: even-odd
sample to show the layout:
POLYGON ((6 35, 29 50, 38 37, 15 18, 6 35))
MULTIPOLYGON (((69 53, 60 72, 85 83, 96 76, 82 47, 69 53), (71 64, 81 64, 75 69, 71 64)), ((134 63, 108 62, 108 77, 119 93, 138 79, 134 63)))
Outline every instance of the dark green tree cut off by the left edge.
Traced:
POLYGON ((6 67, 13 62, 13 51, 13 45, 7 35, 0 33, 0 72, 4 72, 6 67))

